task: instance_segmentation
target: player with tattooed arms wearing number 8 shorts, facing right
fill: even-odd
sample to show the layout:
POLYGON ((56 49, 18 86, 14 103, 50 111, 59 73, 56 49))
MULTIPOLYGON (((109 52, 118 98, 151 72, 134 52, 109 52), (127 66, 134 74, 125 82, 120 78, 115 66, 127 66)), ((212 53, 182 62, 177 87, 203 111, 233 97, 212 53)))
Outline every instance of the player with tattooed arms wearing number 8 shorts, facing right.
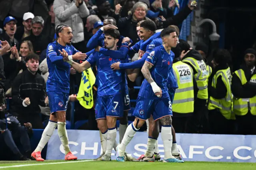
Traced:
MULTIPOLYGON (((162 124, 161 137, 164 143, 164 162, 184 162, 172 156, 172 103, 167 88, 167 80, 172 69, 170 50, 172 47, 176 47, 178 39, 175 30, 172 28, 162 30, 161 38, 162 45, 154 48, 148 54, 142 67, 145 79, 140 88, 133 113, 136 118, 128 126, 122 143, 118 145, 117 161, 124 162, 124 152, 127 144, 152 115, 154 121, 160 121, 162 124)), ((148 147, 144 161, 154 161, 154 148, 157 137, 148 137, 148 147)))

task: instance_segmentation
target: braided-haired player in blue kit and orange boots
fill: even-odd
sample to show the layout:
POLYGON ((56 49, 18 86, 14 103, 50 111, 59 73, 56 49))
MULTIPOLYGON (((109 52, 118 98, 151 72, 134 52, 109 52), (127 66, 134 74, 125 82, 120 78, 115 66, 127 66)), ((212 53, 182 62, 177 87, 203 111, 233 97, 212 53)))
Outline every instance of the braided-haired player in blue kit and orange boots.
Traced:
POLYGON ((65 51, 68 54, 69 60, 84 60, 86 54, 79 52, 71 45, 73 35, 72 29, 68 25, 58 25, 56 27, 56 36, 56 41, 49 43, 46 51, 47 65, 49 69, 46 92, 49 99, 51 115, 38 146, 31 154, 31 157, 37 161, 44 161, 41 157, 41 151, 57 126, 58 135, 60 136, 60 141, 64 147, 66 155, 65 160, 77 159, 68 146, 66 109, 70 90, 70 65, 64 61, 62 53, 65 51))

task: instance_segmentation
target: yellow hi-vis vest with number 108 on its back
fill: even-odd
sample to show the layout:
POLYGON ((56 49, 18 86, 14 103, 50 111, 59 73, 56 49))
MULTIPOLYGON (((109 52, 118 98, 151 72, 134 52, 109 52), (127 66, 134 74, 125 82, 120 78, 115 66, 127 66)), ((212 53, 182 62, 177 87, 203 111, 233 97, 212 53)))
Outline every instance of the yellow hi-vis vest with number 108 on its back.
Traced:
POLYGON ((194 75, 197 87, 199 89, 197 97, 199 99, 208 99, 207 68, 204 60, 197 60, 192 57, 188 57, 183 59, 182 62, 190 63, 190 65, 192 65, 197 72, 194 75))

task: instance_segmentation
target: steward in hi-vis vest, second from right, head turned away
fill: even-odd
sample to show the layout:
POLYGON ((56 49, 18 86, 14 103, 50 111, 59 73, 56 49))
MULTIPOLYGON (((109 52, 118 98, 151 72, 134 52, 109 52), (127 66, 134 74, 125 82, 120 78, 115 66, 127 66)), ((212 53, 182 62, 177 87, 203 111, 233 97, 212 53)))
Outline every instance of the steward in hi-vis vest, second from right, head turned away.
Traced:
POLYGON ((212 60, 214 69, 208 85, 210 132, 233 134, 235 116, 232 112, 232 75, 228 65, 231 56, 226 49, 217 49, 214 54, 212 60))

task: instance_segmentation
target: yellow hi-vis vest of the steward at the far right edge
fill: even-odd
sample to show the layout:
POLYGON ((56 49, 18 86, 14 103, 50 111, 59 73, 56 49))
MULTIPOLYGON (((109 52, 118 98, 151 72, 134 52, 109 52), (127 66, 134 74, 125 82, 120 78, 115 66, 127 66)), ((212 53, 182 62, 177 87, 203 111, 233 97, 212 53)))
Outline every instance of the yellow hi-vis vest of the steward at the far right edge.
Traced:
MULTIPOLYGON (((235 71, 235 74, 239 77, 242 85, 247 83, 244 71, 239 69, 235 71)), ((252 75, 250 82, 256 83, 256 74, 252 75)), ((242 99, 234 97, 234 113, 239 116, 246 115, 248 111, 251 111, 252 115, 256 115, 256 96, 250 99, 242 99), (249 106, 249 108, 248 108, 249 106)))

